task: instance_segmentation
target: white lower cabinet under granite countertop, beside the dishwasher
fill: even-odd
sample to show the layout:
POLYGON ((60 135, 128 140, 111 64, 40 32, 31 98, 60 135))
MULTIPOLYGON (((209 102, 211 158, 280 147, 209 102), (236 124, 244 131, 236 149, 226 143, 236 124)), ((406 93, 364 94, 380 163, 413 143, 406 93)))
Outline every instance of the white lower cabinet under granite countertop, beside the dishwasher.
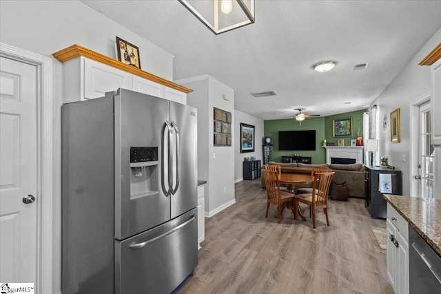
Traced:
POLYGON ((396 294, 409 293, 409 227, 387 204, 387 273, 396 294))

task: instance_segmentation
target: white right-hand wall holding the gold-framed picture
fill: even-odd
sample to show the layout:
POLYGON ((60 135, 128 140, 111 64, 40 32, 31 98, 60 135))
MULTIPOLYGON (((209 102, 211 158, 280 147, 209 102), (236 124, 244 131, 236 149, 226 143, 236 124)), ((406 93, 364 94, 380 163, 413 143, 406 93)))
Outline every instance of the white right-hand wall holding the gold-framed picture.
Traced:
MULTIPOLYGON (((380 127, 380 145, 378 156, 389 156, 389 165, 402 171, 402 192, 403 195, 417 196, 411 184, 418 182, 413 179, 411 167, 412 151, 418 149, 418 140, 411 140, 411 126, 414 117, 411 116, 411 104, 420 98, 427 96, 430 92, 430 67, 420 66, 418 63, 435 48, 441 40, 441 29, 421 48, 421 50, 409 61, 402 72, 390 83, 387 88, 378 96, 372 105, 380 105, 380 124, 384 114, 387 116, 387 129, 383 131, 380 127), (390 141, 390 113, 400 108, 400 143, 390 141), (403 162, 402 156, 406 162, 403 162)), ((432 114, 439 115, 439 114, 432 114)), ((418 119, 418 118, 415 118, 418 119)), ((413 152, 415 153, 415 152, 413 152)), ((441 152, 438 151, 438 165, 441 165, 441 152)), ((441 184, 441 177, 438 174, 436 181, 441 184)))

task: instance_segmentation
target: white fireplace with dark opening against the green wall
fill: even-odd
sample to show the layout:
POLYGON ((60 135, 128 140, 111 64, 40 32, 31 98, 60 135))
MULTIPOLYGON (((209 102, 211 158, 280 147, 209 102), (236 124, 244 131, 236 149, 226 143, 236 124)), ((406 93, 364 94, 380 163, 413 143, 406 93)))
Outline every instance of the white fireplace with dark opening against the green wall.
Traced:
POLYGON ((363 163, 362 146, 326 146, 326 163, 328 165, 339 163, 348 165, 351 163, 363 163), (334 160, 332 159, 334 158, 334 160))

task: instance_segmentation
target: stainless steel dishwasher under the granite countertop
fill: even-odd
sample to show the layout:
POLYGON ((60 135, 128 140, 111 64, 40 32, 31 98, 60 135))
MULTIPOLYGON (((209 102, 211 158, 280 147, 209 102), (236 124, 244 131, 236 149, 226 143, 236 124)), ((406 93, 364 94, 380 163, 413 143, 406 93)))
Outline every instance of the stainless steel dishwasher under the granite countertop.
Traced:
POLYGON ((441 257, 410 224, 409 293, 441 293, 441 257))

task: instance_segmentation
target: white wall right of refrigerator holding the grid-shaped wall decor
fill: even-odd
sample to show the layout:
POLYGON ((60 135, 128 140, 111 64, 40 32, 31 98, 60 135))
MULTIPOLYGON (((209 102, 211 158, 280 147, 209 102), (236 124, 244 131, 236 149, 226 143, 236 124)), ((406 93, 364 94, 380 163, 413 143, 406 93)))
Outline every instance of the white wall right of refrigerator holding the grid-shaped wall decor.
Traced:
POLYGON ((196 76, 176 83, 193 90, 187 94, 187 105, 198 109, 198 179, 207 180, 205 216, 234 204, 234 150, 236 149, 236 116, 234 90, 212 76, 196 76), (225 99, 223 99, 225 95, 225 99), (214 146, 214 107, 232 113, 232 146, 214 146))

